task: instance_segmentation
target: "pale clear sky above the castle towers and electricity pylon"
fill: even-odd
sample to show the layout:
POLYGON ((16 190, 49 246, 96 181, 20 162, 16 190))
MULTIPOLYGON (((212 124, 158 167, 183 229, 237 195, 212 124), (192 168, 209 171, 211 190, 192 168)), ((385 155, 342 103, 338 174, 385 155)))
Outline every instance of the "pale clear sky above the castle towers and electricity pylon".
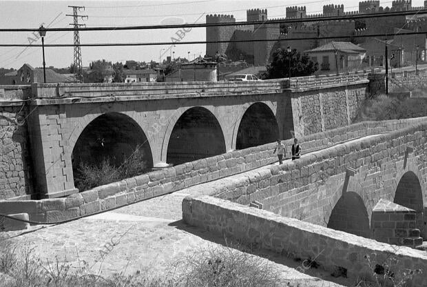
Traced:
MULTIPOLYGON (((87 15, 87 19, 79 19, 87 27, 96 26, 145 26, 181 23, 205 23, 206 14, 233 14, 236 21, 246 20, 246 10, 267 8, 268 17, 285 16, 287 6, 306 6, 307 13, 322 12, 326 4, 344 4, 345 11, 358 9, 358 0, 138 0, 138 1, 3 1, 0 0, 0 28, 50 28, 71 27, 72 8, 67 6, 85 6, 79 14, 87 15)), ((391 6, 391 1, 381 1, 382 6, 391 6)), ((413 6, 423 6, 423 0, 413 0, 413 6)), ((115 30, 80 32, 81 43, 132 43, 132 42, 171 42, 178 38, 179 29, 160 30, 115 30)), ((182 37, 182 36, 181 36, 182 37)), ((186 32, 180 41, 205 41, 206 28, 193 28, 186 32)), ((0 32, 0 43, 38 43, 41 39, 32 32, 0 32), (33 40, 30 40, 30 39, 33 40)), ((73 32, 48 32, 45 44, 73 43, 73 32)), ((167 46, 128 46, 128 47, 81 47, 83 66, 91 61, 105 59, 107 61, 127 60, 159 61, 171 56, 194 59, 205 55, 205 44, 167 46), (165 50, 163 50, 165 49, 165 50), (189 52, 189 53, 188 53, 189 52)), ((65 68, 74 61, 72 47, 45 48, 46 66, 65 68)), ((33 67, 43 66, 41 47, 0 47, 0 67, 21 68, 23 63, 33 67)))

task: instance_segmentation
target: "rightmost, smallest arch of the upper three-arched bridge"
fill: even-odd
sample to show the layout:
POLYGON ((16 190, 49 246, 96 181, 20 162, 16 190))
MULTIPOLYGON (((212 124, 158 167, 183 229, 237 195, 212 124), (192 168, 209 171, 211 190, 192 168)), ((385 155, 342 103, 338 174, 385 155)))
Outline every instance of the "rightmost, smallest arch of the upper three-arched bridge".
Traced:
POLYGON ((252 103, 240 117, 233 131, 232 146, 236 150, 271 143, 280 138, 275 107, 269 102, 252 103))

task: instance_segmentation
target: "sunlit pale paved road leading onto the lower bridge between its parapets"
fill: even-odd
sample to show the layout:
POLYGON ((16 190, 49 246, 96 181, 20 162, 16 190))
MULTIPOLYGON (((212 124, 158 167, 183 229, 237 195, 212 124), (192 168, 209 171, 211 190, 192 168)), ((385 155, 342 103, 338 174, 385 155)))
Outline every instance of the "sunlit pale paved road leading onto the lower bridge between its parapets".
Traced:
MULTIPOLYGON (((176 261, 185 259, 200 248, 225 244, 224 238, 186 226, 181 221, 183 198, 202 194, 202 190, 211 184, 220 184, 220 181, 200 184, 67 224, 32 226, 31 230, 8 232, 7 235, 15 236, 11 239, 13 241, 35 246, 35 252, 43 261, 56 256, 79 266, 79 261, 85 260, 92 266, 92 271, 103 275, 124 270, 126 273, 147 270, 151 274, 165 275, 176 261)), ((284 281, 294 279, 302 286, 354 286, 347 279, 335 279, 316 269, 308 270, 307 274, 300 273, 295 268, 301 262, 274 253, 257 250, 253 254, 268 258, 265 260, 280 270, 284 281)))

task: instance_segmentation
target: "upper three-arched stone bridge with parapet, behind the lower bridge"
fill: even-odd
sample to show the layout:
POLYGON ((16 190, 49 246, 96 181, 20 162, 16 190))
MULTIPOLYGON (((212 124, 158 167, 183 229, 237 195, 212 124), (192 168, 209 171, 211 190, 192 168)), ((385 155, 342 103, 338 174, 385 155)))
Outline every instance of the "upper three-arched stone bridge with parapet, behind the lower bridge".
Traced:
POLYGON ((366 97, 367 76, 0 86, 1 97, 25 103, 1 101, 3 126, 14 130, 1 160, 2 196, 76 193, 79 164, 110 157, 118 165, 138 147, 147 168, 165 168, 346 126, 366 97))

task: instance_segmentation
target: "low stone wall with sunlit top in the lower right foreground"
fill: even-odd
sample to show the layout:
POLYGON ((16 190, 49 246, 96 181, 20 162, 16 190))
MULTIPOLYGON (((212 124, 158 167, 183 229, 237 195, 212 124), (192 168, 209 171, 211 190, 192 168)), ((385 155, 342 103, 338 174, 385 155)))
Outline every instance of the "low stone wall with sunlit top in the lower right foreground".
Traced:
POLYGON ((373 279, 373 270, 368 267, 365 255, 370 255, 371 260, 381 266, 390 255, 395 256, 400 262, 397 266, 422 270, 412 286, 427 284, 427 254, 423 251, 390 246, 209 196, 186 197, 183 219, 191 226, 244 244, 258 244, 260 248, 289 257, 315 260, 320 268, 351 278, 373 279))

